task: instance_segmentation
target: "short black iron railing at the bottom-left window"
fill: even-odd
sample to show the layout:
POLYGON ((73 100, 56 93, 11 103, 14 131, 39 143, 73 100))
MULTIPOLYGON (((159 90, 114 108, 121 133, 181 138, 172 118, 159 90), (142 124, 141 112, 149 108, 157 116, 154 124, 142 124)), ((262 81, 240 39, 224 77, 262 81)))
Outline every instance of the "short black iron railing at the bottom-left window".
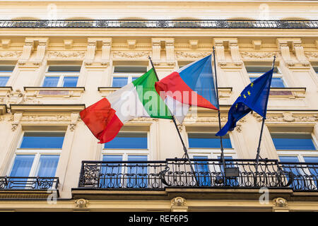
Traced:
POLYGON ((49 190, 57 189, 58 185, 58 177, 0 177, 0 190, 49 190))

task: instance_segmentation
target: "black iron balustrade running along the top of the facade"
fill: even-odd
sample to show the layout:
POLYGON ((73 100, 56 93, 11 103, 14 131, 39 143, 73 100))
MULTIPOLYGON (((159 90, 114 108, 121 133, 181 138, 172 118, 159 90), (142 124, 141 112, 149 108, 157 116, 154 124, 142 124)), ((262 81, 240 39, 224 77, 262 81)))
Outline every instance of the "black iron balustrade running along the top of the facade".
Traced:
POLYGON ((317 29, 318 20, 0 20, 0 28, 317 29))

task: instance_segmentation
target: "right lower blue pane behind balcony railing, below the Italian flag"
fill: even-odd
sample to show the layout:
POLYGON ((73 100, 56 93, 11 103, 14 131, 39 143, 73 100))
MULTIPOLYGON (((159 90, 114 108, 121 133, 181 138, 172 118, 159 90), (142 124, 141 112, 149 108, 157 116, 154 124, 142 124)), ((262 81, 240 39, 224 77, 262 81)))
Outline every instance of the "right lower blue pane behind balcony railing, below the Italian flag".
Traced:
MULTIPOLYGON (((147 161, 147 155, 128 155, 128 161, 147 161)), ((127 168, 127 187, 146 188, 148 186, 146 163, 131 163, 127 165, 127 168)))

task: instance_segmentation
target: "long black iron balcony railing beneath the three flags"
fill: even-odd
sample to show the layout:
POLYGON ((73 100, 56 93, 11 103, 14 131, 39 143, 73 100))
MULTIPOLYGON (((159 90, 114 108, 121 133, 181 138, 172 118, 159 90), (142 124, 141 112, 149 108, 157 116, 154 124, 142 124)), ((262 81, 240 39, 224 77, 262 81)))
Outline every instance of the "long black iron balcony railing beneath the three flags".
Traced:
POLYGON ((219 160, 192 160, 194 174, 186 159, 146 162, 83 161, 79 188, 163 189, 175 187, 291 187, 318 191, 318 163, 260 160, 225 160, 225 169, 238 168, 237 177, 227 177, 219 160))

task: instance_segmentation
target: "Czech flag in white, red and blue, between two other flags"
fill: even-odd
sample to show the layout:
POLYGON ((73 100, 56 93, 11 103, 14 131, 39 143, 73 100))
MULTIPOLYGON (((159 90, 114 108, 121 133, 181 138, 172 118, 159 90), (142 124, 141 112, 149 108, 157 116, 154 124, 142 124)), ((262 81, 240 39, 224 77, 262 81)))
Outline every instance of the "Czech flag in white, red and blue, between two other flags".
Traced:
POLYGON ((155 83, 155 90, 180 123, 190 106, 218 110, 211 57, 187 64, 155 83))

